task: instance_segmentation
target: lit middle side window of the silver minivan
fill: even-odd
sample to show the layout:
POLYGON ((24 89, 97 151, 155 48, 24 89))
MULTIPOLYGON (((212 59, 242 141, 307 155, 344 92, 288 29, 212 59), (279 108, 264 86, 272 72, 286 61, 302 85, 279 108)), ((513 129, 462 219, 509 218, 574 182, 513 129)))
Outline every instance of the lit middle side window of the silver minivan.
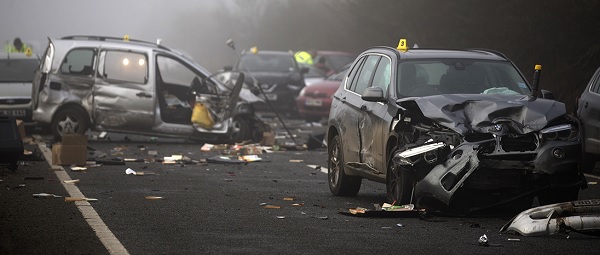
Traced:
POLYGON ((148 59, 141 53, 106 51, 102 76, 110 80, 145 84, 148 81, 148 59))

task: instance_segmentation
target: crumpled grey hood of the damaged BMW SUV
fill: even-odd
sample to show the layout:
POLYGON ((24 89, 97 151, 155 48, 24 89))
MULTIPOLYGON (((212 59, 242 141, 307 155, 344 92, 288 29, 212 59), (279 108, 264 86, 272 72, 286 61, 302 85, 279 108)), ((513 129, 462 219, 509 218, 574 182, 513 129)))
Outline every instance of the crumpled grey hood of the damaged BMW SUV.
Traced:
MULTIPOLYGON (((566 114, 561 102, 524 95, 436 95, 414 99, 423 115, 458 133, 484 132, 484 128, 509 123, 514 132, 538 131, 566 114)), ((401 102, 410 107, 409 101, 401 102)))

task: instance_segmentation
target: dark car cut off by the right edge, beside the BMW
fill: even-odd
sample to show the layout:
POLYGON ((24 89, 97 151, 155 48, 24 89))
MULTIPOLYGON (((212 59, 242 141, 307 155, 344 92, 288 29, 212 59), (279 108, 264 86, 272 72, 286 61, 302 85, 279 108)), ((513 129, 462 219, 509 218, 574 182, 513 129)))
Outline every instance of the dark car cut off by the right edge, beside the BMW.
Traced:
POLYGON ((577 99, 576 115, 582 123, 583 171, 592 172, 600 159, 600 68, 577 99))

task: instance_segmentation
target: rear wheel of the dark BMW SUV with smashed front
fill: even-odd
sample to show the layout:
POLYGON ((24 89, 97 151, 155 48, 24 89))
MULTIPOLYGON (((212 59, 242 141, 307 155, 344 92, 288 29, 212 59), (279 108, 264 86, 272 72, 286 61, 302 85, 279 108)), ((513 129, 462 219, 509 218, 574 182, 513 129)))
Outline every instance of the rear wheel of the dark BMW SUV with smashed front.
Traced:
POLYGON ((331 140, 327 148, 327 182, 334 196, 356 196, 360 190, 362 178, 350 176, 344 172, 344 156, 339 135, 331 140))

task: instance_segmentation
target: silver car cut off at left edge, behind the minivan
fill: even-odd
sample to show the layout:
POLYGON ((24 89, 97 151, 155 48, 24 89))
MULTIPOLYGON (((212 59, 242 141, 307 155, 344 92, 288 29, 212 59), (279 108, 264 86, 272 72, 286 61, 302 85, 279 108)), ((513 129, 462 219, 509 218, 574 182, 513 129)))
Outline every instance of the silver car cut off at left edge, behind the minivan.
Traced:
POLYGON ((31 121, 31 84, 40 59, 35 54, 0 53, 0 115, 31 121))

